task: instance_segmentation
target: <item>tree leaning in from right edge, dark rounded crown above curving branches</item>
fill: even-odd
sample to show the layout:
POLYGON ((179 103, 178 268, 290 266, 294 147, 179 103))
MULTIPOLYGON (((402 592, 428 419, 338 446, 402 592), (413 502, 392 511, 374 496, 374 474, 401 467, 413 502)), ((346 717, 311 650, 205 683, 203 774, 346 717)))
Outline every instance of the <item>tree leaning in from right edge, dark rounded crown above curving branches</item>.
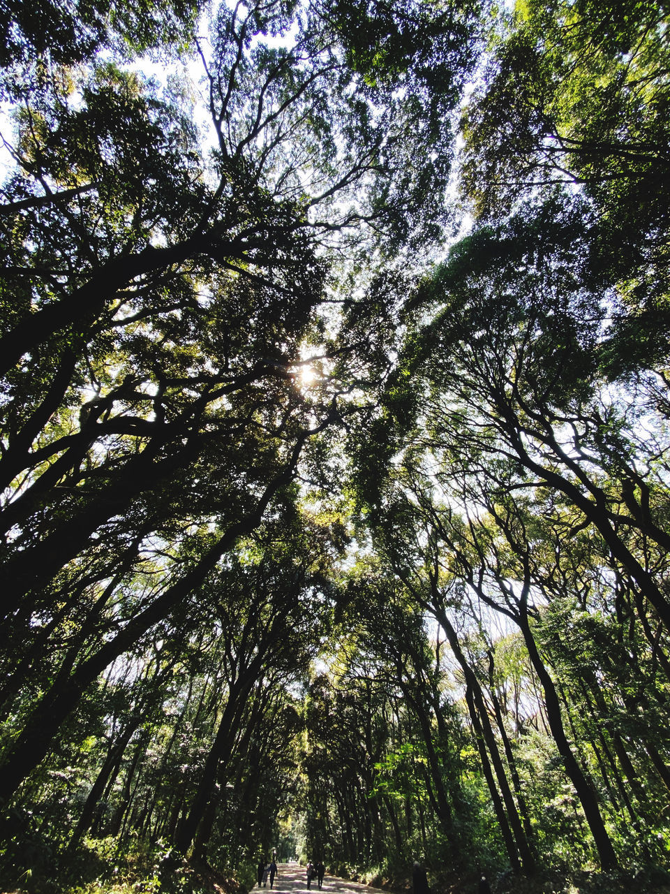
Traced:
POLYGON ((583 267, 569 264, 582 226, 572 209, 552 220, 557 213, 552 204, 528 221, 513 217, 495 235, 476 233, 428 286, 435 316, 410 342, 413 371, 426 368, 424 351, 431 356, 436 436, 427 443, 449 460, 447 474, 451 464, 472 477, 490 458, 507 486, 560 494, 576 513, 574 525, 585 519, 598 530, 616 567, 667 628, 660 586, 666 487, 657 474, 666 462, 663 421, 649 417, 649 450, 635 430, 644 404, 607 388, 599 368, 607 281, 594 276, 588 257, 583 267), (440 295, 451 296, 441 308, 440 295), (648 461, 643 472, 632 455, 648 461), (638 552, 638 537, 655 544, 658 573, 638 552))

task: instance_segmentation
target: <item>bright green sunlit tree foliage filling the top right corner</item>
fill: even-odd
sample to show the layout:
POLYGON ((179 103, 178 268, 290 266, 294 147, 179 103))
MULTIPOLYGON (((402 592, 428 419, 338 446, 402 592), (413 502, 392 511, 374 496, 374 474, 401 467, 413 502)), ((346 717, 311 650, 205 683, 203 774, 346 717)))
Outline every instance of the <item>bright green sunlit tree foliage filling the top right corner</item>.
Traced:
POLYGON ((496 217, 557 183, 587 196, 619 283, 612 367, 665 362, 669 87, 665 3, 517 4, 491 28, 465 110, 463 189, 496 217))

